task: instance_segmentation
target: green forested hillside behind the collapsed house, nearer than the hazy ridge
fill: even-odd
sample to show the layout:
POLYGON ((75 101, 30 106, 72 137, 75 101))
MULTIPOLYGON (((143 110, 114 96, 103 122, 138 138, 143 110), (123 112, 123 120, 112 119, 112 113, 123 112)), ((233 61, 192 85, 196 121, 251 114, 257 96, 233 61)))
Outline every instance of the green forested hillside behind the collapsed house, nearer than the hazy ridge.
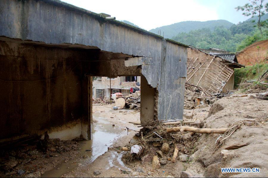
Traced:
MULTIPOLYGON (((262 20, 266 20, 268 15, 262 16, 262 20)), ((181 32, 172 39, 180 43, 192 45, 197 48, 219 48, 230 52, 242 50, 246 46, 268 38, 268 29, 263 27, 263 35, 254 27, 256 22, 252 23, 256 17, 250 18, 230 28, 225 26, 216 26, 214 30, 209 28, 201 28, 191 30, 188 33, 181 32)))

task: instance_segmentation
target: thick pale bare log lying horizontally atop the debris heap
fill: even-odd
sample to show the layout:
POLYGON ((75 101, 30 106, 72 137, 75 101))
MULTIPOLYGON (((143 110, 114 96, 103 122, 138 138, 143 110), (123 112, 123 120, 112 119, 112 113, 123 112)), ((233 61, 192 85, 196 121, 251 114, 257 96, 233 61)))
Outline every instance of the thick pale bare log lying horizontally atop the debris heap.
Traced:
POLYGON ((208 128, 195 128, 195 127, 189 127, 189 126, 179 126, 179 127, 171 127, 167 128, 166 132, 194 132, 194 133, 201 133, 201 134, 224 134, 229 128, 220 128, 220 129, 208 129, 208 128))

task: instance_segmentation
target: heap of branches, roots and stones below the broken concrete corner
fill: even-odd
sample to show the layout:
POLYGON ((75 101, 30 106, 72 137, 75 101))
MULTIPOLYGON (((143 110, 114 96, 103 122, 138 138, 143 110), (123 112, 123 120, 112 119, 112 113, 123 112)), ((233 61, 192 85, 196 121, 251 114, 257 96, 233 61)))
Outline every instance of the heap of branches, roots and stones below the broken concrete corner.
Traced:
POLYGON ((169 133, 168 130, 173 128, 171 125, 189 126, 190 124, 196 124, 199 128, 203 127, 203 123, 194 123, 194 121, 170 123, 154 121, 146 126, 144 125, 136 134, 138 137, 137 141, 122 147, 123 151, 127 151, 123 155, 123 160, 131 162, 135 159, 140 159, 143 164, 152 162, 152 166, 157 168, 160 165, 167 164, 167 161, 175 162, 178 154, 179 156, 186 154, 188 157, 188 155, 193 154, 195 151, 194 141, 198 138, 199 134, 183 133, 182 131, 169 133), (137 146, 139 146, 140 150, 135 154, 132 153, 133 147, 137 148, 137 146))

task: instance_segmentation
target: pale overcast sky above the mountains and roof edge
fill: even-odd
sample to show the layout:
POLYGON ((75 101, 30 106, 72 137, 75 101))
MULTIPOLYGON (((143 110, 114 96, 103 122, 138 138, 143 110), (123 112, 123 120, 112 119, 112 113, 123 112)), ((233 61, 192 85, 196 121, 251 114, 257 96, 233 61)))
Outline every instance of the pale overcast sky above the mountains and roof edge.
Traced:
POLYGON ((115 16, 151 30, 181 21, 223 19, 237 24, 249 17, 234 8, 248 0, 62 0, 96 13, 115 16))

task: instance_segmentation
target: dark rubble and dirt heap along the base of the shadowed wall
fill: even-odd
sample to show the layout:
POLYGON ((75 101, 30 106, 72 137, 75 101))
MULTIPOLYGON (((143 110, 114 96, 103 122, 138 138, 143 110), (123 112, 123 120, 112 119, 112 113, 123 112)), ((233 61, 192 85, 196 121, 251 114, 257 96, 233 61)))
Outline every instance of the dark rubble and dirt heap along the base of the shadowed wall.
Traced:
POLYGON ((73 159, 79 152, 79 139, 63 141, 60 139, 37 139, 29 143, 0 148, 0 176, 40 177, 57 161, 73 159), (37 175, 37 176, 36 176, 37 175))

